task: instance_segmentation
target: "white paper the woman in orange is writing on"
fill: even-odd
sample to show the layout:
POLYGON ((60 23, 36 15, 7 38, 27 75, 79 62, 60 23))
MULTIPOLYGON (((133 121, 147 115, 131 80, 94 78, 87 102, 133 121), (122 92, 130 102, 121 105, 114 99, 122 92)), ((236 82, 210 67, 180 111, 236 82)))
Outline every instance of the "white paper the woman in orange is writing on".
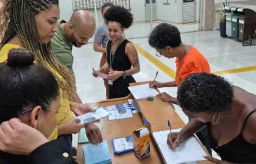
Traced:
POLYGON ((151 89, 149 84, 137 85, 134 87, 128 87, 135 99, 147 98, 149 96, 156 97, 159 94, 156 89, 151 89))

